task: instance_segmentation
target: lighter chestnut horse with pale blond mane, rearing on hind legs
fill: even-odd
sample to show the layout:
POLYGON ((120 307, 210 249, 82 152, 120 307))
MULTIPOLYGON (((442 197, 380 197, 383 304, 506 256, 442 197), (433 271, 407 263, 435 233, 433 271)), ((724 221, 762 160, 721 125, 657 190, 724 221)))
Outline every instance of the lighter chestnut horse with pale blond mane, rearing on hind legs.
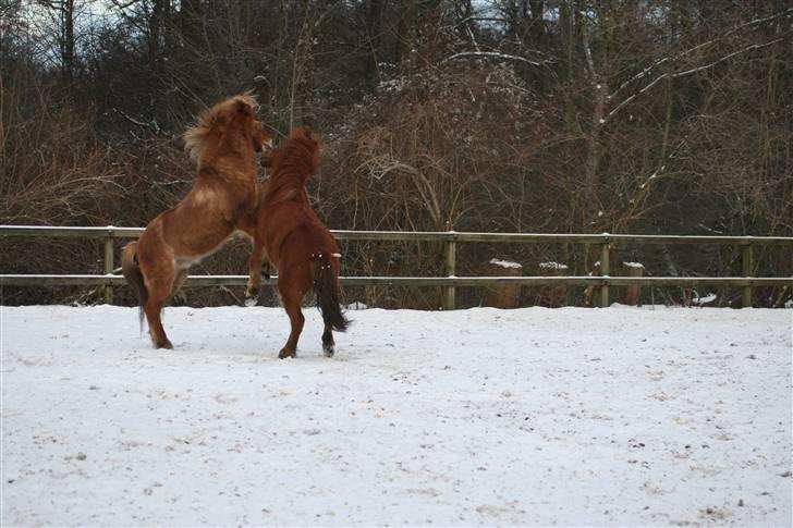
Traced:
POLYGON ((172 348, 160 311, 187 278, 191 266, 218 250, 240 218, 258 206, 256 152, 272 139, 256 120, 248 94, 206 110, 184 134, 198 165, 193 188, 160 213, 137 242, 124 247, 121 268, 135 291, 157 348, 172 348))

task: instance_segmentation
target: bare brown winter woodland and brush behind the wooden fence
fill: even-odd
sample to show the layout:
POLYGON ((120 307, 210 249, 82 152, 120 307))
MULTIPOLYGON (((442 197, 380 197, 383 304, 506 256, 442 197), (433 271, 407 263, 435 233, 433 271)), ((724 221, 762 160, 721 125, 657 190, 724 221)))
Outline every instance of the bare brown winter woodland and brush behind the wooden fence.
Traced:
MULTIPOLYGON (((792 36, 789 0, 0 0, 0 223, 145 225, 191 186, 184 128, 252 89, 274 133, 309 125, 324 138, 309 195, 332 229, 793 236, 792 36)), ((442 269, 440 244, 343 250, 349 275, 442 269)), ((0 238, 3 273, 101 273, 101 255, 0 238)), ((247 255, 235 242, 194 272, 242 274, 247 255)), ((457 274, 493 257, 525 274, 548 260, 586 274, 597 259, 583 246, 468 244, 457 274)), ((736 275, 740 257, 626 246, 612 262, 736 275)), ((757 277, 793 274, 790 250, 755 258, 757 277)), ((644 302, 683 294, 646 288, 644 302)), ((436 290, 345 295, 440 304, 436 290)), ((457 297, 475 306, 481 292, 457 297)), ((756 303, 789 297, 758 290, 756 303)), ((524 304, 536 298, 524 290, 524 304)), ((2 292, 3 304, 100 299, 2 292)), ((582 290, 563 302, 582 304, 582 290)))

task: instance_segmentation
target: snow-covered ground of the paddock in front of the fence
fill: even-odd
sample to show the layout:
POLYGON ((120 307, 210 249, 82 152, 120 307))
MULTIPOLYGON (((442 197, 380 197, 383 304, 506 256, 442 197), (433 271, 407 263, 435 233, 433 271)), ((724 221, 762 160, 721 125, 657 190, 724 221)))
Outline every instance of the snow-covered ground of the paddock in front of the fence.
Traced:
POLYGON ((0 307, 2 526, 791 525, 791 310, 0 307))

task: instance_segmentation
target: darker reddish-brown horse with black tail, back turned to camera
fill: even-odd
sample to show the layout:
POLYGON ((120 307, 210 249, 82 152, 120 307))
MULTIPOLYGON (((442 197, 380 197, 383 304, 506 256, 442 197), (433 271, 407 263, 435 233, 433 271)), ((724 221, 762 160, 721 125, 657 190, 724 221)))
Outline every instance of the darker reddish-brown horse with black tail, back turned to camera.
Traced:
POLYGON ((259 293, 261 266, 269 261, 279 270, 278 291, 289 315, 292 332, 278 357, 294 357, 305 318, 301 302, 309 290, 317 295, 325 332, 322 349, 334 352, 333 330, 343 332, 350 321, 339 303, 339 246, 328 228, 308 205, 306 179, 317 171, 320 145, 305 128, 295 128, 269 155, 270 176, 255 218, 244 231, 253 231, 254 250, 249 262, 247 297, 259 293), (254 228, 255 224, 255 228, 254 228))

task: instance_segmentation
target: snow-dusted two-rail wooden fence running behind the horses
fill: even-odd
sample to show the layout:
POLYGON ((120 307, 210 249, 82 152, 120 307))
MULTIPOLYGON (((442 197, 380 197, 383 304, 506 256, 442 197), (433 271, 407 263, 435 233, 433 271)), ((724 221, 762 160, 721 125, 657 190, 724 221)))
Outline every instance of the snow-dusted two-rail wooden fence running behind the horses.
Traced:
MULTIPOLYGON (((345 286, 442 286, 443 308, 454 309, 455 288, 460 286, 493 286, 503 284, 540 285, 587 285, 600 286, 600 306, 609 306, 609 286, 650 285, 684 286, 715 285, 736 286, 743 290, 743 306, 752 306, 754 286, 793 286, 793 277, 756 278, 754 247, 758 245, 782 245, 793 247, 793 237, 781 236, 678 236, 678 235, 599 235, 535 234, 535 233, 462 233, 444 232, 395 232, 395 231, 342 231, 331 230, 340 241, 424 241, 444 244, 446 277, 343 277, 345 286), (584 244, 600 246, 599 277, 456 277, 456 244, 487 242, 510 244, 584 244), (742 249, 743 277, 611 277, 610 251, 613 244, 694 244, 731 245, 742 249)), ((0 237, 77 237, 105 241, 105 274, 0 274, 0 286, 105 286, 105 298, 113 300, 112 286, 125 283, 117 274, 113 241, 135 238, 142 228, 50 228, 34 225, 0 225, 0 237)), ((0 270, 1 271, 1 270, 0 270)), ((247 275, 190 275, 191 286, 244 285, 247 275)), ((273 277, 272 282, 277 281, 273 277)))

